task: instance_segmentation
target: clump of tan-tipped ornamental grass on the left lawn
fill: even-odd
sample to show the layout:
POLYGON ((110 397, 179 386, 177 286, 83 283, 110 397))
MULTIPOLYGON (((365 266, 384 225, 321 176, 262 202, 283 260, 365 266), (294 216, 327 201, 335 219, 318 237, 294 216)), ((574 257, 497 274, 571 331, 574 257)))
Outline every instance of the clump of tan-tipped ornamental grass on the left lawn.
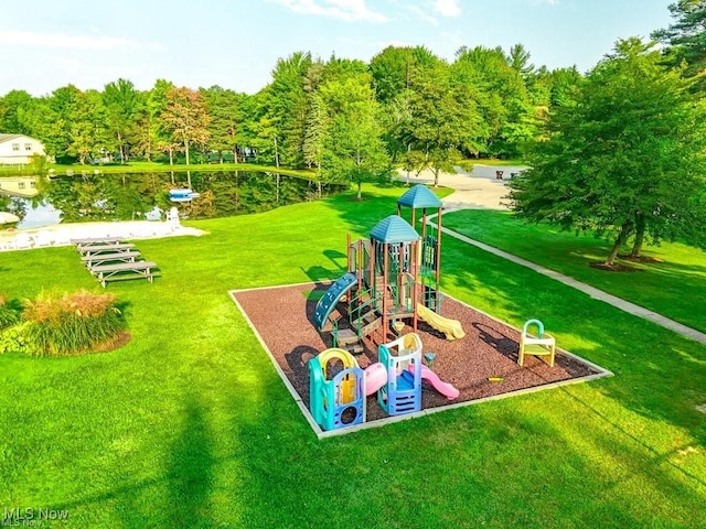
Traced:
POLYGON ((125 331, 110 293, 82 290, 61 296, 40 294, 22 313, 35 355, 76 355, 113 348, 125 331))

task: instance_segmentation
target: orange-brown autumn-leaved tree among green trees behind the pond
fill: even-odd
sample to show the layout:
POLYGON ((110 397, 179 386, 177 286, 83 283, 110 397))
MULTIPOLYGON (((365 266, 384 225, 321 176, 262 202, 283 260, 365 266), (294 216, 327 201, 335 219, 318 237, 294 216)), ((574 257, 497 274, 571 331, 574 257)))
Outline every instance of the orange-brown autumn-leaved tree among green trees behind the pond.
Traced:
POLYGON ((208 141, 210 119, 201 94, 186 87, 171 88, 167 91, 167 106, 160 120, 173 142, 183 145, 189 165, 191 145, 204 145, 208 141))

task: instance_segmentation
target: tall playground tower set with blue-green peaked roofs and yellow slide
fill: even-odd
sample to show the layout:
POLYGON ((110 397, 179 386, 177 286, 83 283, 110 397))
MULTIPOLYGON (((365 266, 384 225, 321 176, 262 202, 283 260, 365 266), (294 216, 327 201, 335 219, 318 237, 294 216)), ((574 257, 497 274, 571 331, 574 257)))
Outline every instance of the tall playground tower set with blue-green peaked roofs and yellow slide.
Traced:
POLYGON ((383 219, 370 239, 347 239, 347 271, 319 300, 314 325, 330 331, 333 346, 362 353, 364 338, 376 333, 385 342, 395 324, 407 322, 417 331, 418 320, 446 334, 464 333, 458 321, 440 315, 441 201, 424 185, 416 185, 397 201, 397 215, 383 219), (410 208, 411 224, 403 216, 410 208), (415 230, 421 210, 421 235, 415 230), (436 230, 427 225, 427 212, 437 214, 436 230))

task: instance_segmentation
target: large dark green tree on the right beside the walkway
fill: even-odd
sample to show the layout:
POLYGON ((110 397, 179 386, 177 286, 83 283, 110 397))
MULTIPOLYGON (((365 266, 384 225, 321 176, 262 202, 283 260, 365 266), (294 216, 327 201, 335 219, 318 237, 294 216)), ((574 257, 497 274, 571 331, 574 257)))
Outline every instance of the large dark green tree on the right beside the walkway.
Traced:
POLYGON ((651 44, 619 41, 580 85, 576 104, 555 109, 533 169, 511 181, 520 217, 611 234, 608 267, 630 236, 639 257, 645 236, 696 240, 704 231, 693 225, 704 218, 704 105, 682 72, 661 61, 651 44))

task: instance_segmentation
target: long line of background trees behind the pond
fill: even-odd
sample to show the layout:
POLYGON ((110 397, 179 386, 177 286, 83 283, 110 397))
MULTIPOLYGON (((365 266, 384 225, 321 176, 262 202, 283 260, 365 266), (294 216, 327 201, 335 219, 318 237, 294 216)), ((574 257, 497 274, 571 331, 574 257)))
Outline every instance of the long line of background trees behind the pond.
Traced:
POLYGON ((521 44, 507 53, 462 47, 450 63, 422 46, 391 46, 367 64, 297 52, 278 60, 254 95, 164 79, 149 90, 128 79, 42 97, 12 90, 0 98, 0 131, 35 137, 49 154, 79 163, 223 153, 242 161, 257 152, 355 181, 392 165, 520 155, 580 77, 535 67, 521 44))

